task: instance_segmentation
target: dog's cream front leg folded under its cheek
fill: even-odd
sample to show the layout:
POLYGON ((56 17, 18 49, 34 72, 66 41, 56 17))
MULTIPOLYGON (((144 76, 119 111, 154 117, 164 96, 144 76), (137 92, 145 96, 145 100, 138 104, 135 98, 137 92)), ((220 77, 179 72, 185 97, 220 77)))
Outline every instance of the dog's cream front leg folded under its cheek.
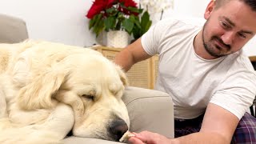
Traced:
MULTIPOLYGON (((4 118, 2 118, 4 119, 4 118)), ((3 124, 8 124, 8 119, 3 124)), ((0 123, 1 124, 1 123, 0 123)), ((62 103, 52 110, 45 122, 29 125, 9 127, 0 130, 0 143, 26 143, 26 144, 57 144, 62 143, 61 140, 66 134, 72 130, 74 126, 74 112, 62 103)), ((1 125, 0 125, 1 128, 1 125)))

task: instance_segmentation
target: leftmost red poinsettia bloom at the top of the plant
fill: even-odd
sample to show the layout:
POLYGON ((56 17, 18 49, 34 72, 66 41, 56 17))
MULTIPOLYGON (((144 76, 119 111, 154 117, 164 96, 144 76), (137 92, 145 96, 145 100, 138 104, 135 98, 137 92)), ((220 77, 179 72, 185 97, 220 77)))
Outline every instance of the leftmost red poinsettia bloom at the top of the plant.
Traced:
POLYGON ((90 7, 90 10, 86 14, 87 18, 94 18, 94 15, 101 13, 103 10, 106 10, 113 6, 114 0, 95 0, 93 5, 90 7))

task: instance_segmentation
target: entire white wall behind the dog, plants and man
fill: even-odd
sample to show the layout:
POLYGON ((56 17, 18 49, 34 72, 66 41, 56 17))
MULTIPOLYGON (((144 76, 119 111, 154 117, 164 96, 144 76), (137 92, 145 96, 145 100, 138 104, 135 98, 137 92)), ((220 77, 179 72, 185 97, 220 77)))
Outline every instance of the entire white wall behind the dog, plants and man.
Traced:
MULTIPOLYGON (((0 0, 0 13, 24 19, 30 38, 74 46, 91 46, 95 43, 95 35, 88 30, 89 21, 85 15, 93 1, 0 0)), ((174 0, 174 10, 166 11, 163 18, 203 18, 208 2, 210 0, 174 0)), ((156 19, 158 18, 154 18, 154 21, 156 19)), ((246 45, 246 53, 256 55, 255 45, 256 38, 246 45)))

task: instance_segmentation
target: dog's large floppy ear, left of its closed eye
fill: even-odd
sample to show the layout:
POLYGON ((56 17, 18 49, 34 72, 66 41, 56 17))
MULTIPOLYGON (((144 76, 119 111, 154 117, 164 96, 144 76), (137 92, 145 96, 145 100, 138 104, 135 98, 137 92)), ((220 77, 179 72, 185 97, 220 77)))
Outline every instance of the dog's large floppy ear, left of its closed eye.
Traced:
POLYGON ((51 108, 52 96, 58 92, 65 79, 65 73, 48 70, 38 74, 32 82, 24 86, 18 94, 18 106, 25 110, 51 108))

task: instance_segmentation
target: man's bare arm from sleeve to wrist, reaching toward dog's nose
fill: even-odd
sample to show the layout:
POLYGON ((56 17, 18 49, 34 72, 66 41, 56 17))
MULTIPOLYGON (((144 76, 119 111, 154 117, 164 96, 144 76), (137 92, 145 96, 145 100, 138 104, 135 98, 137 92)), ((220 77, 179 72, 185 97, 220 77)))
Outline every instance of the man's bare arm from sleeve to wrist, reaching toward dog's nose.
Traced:
MULTIPOLYGON (((198 133, 173 139, 177 143, 218 143, 228 144, 238 126, 239 119, 230 111, 215 104, 208 104, 198 133)), ((174 142, 174 143, 176 143, 174 142)))

